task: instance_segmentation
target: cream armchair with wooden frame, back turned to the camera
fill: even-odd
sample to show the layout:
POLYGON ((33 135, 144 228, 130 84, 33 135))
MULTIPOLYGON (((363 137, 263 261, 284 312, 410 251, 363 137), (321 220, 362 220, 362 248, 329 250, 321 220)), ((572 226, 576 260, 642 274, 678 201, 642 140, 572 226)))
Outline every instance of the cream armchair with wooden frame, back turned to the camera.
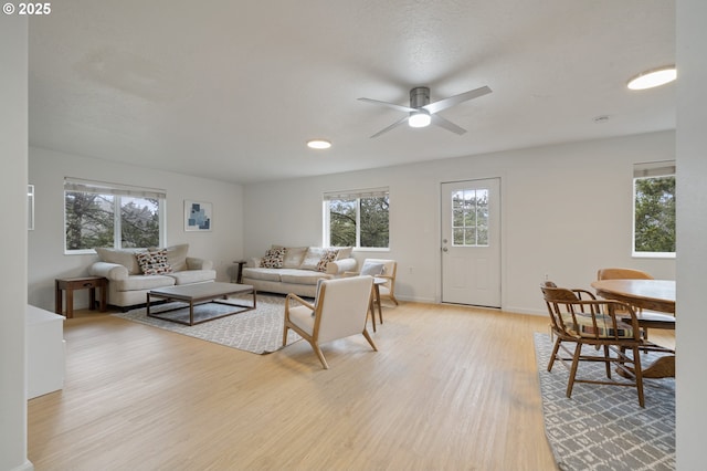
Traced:
POLYGON ((378 352, 366 329, 372 284, 372 276, 324 280, 314 304, 296 294, 288 294, 285 301, 283 346, 287 344, 287 333, 292 328, 312 345, 325 369, 329 369, 329 365, 319 348, 320 344, 363 334, 373 350, 378 352))

